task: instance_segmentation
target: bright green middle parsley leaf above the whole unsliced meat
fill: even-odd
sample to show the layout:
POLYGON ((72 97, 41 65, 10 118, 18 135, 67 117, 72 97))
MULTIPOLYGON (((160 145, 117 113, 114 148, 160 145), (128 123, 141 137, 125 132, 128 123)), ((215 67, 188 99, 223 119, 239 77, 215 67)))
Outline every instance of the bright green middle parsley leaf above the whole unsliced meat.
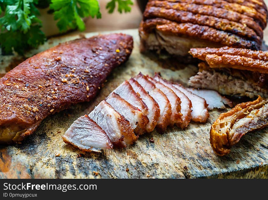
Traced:
POLYGON ((100 6, 97 0, 51 0, 50 9, 53 9, 54 19, 61 32, 79 28, 85 30, 83 17, 101 18, 100 6))

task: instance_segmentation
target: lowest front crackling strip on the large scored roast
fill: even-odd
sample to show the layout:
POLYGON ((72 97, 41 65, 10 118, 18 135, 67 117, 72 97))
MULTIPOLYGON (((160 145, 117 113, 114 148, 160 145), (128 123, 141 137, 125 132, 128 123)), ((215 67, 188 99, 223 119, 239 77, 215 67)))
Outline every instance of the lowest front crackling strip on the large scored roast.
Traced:
POLYGON ((140 33, 146 34, 146 31, 152 31, 155 28, 165 34, 197 37, 210 42, 220 43, 223 46, 249 48, 252 50, 260 49, 260 45, 255 41, 245 40, 231 33, 216 30, 208 26, 200 26, 192 23, 176 23, 161 18, 146 19, 141 24, 140 33))

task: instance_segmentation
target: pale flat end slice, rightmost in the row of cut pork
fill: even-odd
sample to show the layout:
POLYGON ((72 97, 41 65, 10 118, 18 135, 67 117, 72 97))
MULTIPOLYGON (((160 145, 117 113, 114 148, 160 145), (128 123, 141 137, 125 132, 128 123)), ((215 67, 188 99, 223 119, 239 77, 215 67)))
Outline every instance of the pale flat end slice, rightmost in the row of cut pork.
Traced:
POLYGON ((227 99, 225 96, 221 96, 214 90, 210 89, 194 89, 194 88, 186 88, 189 92, 200 96, 206 100, 208 104, 207 108, 212 110, 213 108, 225 108, 225 105, 233 107, 233 102, 227 99), (225 105, 224 105, 225 104, 225 105))

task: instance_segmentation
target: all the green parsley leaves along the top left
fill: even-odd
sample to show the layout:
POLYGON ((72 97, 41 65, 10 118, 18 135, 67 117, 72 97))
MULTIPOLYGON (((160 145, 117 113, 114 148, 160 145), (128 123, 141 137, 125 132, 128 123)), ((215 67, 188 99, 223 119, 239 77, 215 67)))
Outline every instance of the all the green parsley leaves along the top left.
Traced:
MULTIPOLYGON (((130 12, 131 0, 111 0, 106 9, 109 13, 130 12)), ((84 17, 101 18, 98 0, 0 0, 0 47, 2 54, 13 51, 23 54, 46 40, 41 31, 42 22, 37 8, 50 8, 61 33, 78 28, 85 30, 84 17)))

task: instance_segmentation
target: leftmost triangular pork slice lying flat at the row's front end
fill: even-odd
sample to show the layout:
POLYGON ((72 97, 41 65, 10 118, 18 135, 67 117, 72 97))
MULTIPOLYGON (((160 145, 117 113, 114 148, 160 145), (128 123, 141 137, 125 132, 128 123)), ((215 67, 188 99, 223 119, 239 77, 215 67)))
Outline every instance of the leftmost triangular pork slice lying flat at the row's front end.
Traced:
POLYGON ((108 135, 87 115, 74 121, 62 139, 65 143, 85 151, 101 152, 101 149, 113 148, 108 135))

